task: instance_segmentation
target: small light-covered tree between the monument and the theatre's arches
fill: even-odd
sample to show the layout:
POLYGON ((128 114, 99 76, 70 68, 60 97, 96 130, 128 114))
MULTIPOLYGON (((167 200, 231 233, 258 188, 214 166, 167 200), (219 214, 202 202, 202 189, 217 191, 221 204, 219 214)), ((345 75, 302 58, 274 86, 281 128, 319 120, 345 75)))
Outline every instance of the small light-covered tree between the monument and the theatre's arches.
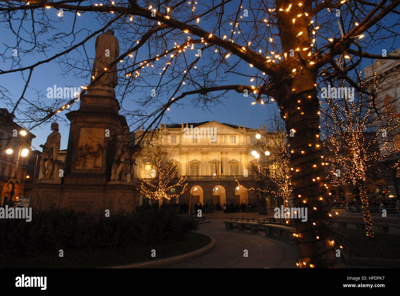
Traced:
MULTIPOLYGON (((179 163, 171 160, 172 150, 168 158, 164 157, 166 153, 162 151, 162 145, 156 147, 152 159, 155 160, 155 167, 153 167, 152 175, 138 175, 140 180, 140 192, 146 198, 154 198, 158 200, 158 205, 161 207, 164 199, 170 200, 182 195, 186 191, 188 183, 185 183, 186 176, 180 176, 176 181, 176 174, 178 173, 179 163), (171 189, 175 189, 172 191, 171 189)), ((140 161, 144 174, 146 169, 143 161, 140 161)))

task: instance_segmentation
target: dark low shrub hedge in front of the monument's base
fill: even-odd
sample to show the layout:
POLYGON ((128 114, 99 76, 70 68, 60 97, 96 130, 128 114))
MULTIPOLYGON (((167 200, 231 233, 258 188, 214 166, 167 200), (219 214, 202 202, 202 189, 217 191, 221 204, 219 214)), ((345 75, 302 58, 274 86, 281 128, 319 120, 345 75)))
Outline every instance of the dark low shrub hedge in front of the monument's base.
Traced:
POLYGON ((94 219, 73 210, 33 213, 32 221, 0 219, 4 256, 38 255, 60 249, 92 250, 146 246, 182 240, 198 221, 168 208, 144 209, 136 215, 94 219))

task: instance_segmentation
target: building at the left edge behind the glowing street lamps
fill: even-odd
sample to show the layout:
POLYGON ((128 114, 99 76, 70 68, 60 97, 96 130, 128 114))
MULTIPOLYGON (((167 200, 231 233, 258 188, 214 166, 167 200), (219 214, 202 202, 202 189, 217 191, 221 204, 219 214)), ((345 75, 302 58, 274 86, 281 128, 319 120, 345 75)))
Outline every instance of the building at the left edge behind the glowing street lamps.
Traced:
POLYGON ((15 123, 14 118, 14 114, 7 109, 0 109, 0 205, 10 197, 11 185, 7 182, 14 178, 15 173, 20 184, 15 185, 13 200, 24 194, 24 187, 30 178, 27 175, 28 159, 32 139, 36 136, 15 123), (18 154, 22 149, 28 149, 28 155, 22 156, 24 153, 21 153, 17 168, 18 154))

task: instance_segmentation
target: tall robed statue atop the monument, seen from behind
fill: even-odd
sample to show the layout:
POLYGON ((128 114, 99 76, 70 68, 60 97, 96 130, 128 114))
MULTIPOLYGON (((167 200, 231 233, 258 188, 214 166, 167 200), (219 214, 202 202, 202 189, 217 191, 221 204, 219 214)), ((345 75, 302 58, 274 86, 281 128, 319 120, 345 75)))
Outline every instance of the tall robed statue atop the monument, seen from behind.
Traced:
POLYGON ((96 80, 88 93, 102 95, 101 90, 106 90, 115 95, 114 88, 118 85, 117 64, 113 66, 110 66, 110 64, 120 55, 120 46, 118 39, 114 36, 114 31, 107 30, 107 32, 98 35, 95 48, 96 57, 94 58, 92 76, 97 78, 104 71, 104 68, 107 68, 107 70, 101 78, 96 80))

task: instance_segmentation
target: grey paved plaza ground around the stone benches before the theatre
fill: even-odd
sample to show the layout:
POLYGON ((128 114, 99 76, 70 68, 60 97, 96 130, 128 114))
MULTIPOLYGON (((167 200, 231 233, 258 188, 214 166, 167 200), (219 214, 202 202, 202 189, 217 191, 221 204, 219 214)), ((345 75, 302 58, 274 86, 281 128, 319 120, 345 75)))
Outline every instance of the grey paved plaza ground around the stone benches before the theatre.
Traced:
MULTIPOLYGON (((269 238, 264 232, 250 233, 238 229, 226 230, 224 220, 232 218, 263 219, 273 213, 209 213, 209 223, 200 224, 198 232, 216 239, 215 248, 207 254, 192 260, 180 262, 169 268, 296 268, 297 248, 294 242, 282 238, 269 238), (248 257, 244 257, 248 250, 248 257)), ((362 220, 361 215, 340 214, 333 219, 362 220)), ((372 217, 373 222, 399 223, 396 217, 372 217)), ((346 266, 338 258, 338 268, 368 268, 367 266, 346 266)), ((372 267, 372 266, 371 266, 372 267)))

